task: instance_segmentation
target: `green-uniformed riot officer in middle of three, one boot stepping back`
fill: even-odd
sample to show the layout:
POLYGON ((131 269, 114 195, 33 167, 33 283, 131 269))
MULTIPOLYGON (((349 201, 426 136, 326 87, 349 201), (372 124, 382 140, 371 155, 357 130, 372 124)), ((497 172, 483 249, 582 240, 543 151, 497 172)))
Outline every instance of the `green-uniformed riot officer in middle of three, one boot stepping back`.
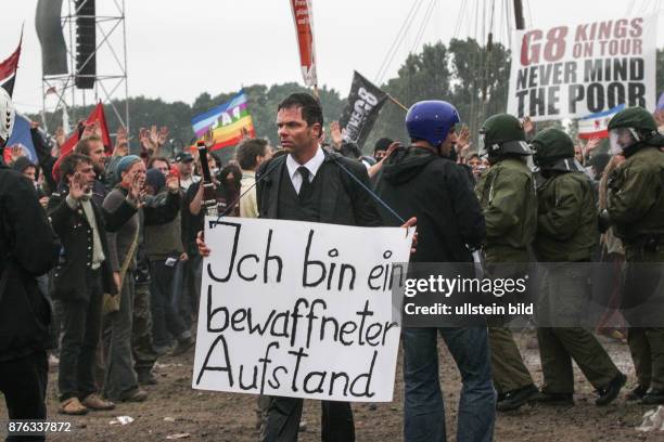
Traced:
POLYGON ((534 155, 546 181, 537 188, 537 236, 533 243, 538 261, 547 264, 538 290, 537 328, 544 374, 542 392, 572 394, 576 362, 592 386, 604 391, 622 374, 587 329, 580 327, 585 311, 590 261, 597 243, 597 216, 589 179, 574 160, 574 144, 559 129, 547 129, 533 140, 534 155))

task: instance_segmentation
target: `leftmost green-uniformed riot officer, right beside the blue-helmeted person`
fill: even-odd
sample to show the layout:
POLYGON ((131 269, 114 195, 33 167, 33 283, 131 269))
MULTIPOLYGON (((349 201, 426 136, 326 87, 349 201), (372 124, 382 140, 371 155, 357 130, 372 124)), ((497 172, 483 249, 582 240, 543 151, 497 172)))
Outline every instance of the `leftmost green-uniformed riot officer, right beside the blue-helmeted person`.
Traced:
MULTIPOLYGON (((487 268, 499 263, 527 263, 527 247, 537 226, 537 195, 527 166, 525 133, 510 115, 487 119, 481 130, 482 147, 491 162, 477 182, 476 194, 486 222, 483 252, 487 268)), ((515 272, 525 270, 523 266, 515 272)), ((533 386, 533 377, 509 328, 489 326, 491 374, 499 394, 533 386)))

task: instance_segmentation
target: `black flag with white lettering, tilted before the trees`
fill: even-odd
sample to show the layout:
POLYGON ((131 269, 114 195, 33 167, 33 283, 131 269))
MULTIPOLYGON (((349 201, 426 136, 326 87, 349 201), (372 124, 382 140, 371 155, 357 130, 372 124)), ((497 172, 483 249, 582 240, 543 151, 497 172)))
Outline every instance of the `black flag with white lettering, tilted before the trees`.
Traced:
POLYGON ((385 100, 385 92, 355 72, 348 104, 339 121, 342 129, 345 129, 344 139, 355 142, 361 150, 385 100))

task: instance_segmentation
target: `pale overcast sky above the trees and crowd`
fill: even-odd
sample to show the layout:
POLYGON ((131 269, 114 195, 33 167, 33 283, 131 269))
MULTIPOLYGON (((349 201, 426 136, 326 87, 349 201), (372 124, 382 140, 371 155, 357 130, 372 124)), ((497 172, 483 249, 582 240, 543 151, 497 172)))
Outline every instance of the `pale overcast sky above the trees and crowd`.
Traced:
MULTIPOLYGON (((122 0, 115 0, 118 3, 122 0)), ((404 21, 417 1, 421 6, 388 65, 393 77, 408 52, 452 37, 485 35, 490 0, 312 0, 318 78, 348 92, 353 69, 370 80, 376 74, 404 21), (487 4, 486 13, 476 4, 487 4), (431 18, 422 32, 426 10, 431 18), (484 28, 484 31, 483 31, 484 28), (421 37, 420 37, 421 34, 421 37)), ((66 8, 68 0, 64 0, 66 8)), ((27 113, 41 108, 41 49, 35 31, 37 0, 2 0, 0 60, 25 36, 14 100, 27 113)), ((97 0, 113 10, 113 0, 97 0)), ((507 39, 505 4, 495 0, 494 34, 507 39)), ((524 0, 526 25, 556 26, 586 20, 618 18, 628 12, 659 10, 662 0, 524 0)), ((99 14, 99 12, 98 12, 99 14)), ((510 22, 513 23, 511 11, 510 22)), ((129 95, 181 100, 202 92, 232 92, 242 84, 302 83, 289 0, 126 0, 129 95)), ((664 25, 657 46, 664 46, 664 25)), ((117 72, 110 53, 98 72, 117 72)))

